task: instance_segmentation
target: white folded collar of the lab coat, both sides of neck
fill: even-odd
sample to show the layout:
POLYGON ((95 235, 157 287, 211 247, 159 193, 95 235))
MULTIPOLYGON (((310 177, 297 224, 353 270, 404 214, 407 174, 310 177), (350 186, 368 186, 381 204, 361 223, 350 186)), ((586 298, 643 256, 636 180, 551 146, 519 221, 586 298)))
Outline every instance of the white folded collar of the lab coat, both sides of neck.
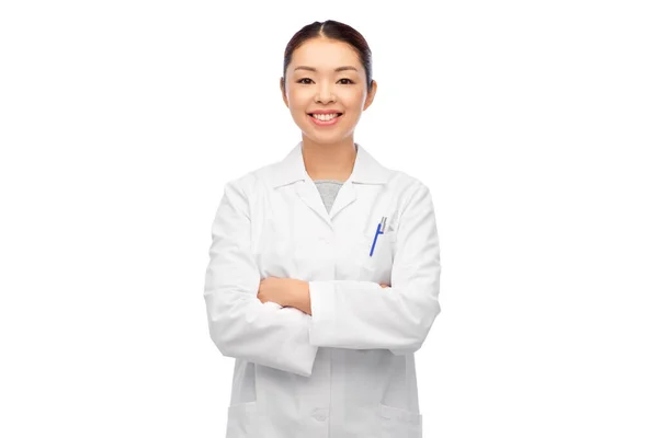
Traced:
MULTIPOLYGON (((345 183, 386 184, 392 171, 379 164, 360 143, 356 145, 356 159, 352 174, 345 183)), ((273 187, 296 181, 311 181, 302 157, 303 142, 299 141, 292 151, 273 166, 271 183, 273 187)))

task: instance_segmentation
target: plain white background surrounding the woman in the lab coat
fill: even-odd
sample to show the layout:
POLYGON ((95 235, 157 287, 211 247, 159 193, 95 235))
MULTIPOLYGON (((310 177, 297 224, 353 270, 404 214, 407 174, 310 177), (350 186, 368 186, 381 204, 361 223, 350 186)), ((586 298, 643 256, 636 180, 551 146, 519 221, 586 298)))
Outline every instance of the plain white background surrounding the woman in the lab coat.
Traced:
POLYGON ((356 141, 436 207, 423 436, 655 438, 651 3, 2 2, 0 436, 224 436, 211 223, 299 140, 283 50, 333 19, 374 56, 356 141))

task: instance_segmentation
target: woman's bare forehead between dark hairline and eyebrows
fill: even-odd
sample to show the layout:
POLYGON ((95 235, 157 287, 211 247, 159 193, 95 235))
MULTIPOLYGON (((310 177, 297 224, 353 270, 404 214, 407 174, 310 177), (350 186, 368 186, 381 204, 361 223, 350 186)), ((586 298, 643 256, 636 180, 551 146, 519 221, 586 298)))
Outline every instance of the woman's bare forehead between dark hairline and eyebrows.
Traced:
MULTIPOLYGON (((333 72, 342 66, 353 66, 363 70, 359 53, 348 43, 327 38, 313 38, 295 49, 288 68, 291 71, 298 66, 315 67, 320 72, 333 72)), ((305 70, 308 72, 307 70, 305 70)))

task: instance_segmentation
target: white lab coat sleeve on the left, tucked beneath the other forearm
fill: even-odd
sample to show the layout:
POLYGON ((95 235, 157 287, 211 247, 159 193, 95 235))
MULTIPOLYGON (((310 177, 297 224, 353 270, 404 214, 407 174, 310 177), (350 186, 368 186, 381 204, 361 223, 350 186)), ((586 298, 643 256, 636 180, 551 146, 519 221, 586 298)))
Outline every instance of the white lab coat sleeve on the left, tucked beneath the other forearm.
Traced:
POLYGON ((211 338, 224 356, 308 377, 318 350, 310 316, 258 299, 248 199, 236 181, 224 191, 213 226, 204 299, 211 338))

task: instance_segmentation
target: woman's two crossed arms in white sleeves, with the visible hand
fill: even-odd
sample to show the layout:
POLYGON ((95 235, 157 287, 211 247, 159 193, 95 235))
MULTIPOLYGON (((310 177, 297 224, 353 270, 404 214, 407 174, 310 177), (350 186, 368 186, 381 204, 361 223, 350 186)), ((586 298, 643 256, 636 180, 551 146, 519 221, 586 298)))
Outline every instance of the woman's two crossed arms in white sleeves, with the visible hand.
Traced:
POLYGON ((424 185, 400 212, 390 287, 358 280, 261 281, 248 211, 239 183, 228 183, 212 227, 204 289, 211 338, 224 356, 310 376, 318 347, 395 355, 421 347, 441 310, 439 238, 424 185), (383 287, 389 290, 382 293, 383 287))

